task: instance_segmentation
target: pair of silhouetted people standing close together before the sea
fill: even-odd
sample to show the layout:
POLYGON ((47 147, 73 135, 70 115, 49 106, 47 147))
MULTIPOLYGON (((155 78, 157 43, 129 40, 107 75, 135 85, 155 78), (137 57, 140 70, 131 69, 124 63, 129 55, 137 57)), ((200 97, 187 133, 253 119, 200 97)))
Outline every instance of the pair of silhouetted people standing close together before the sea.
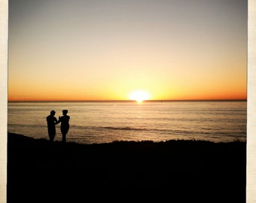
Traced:
POLYGON ((50 111, 50 115, 47 116, 47 129, 48 129, 48 135, 50 138, 50 142, 53 142, 54 137, 56 135, 56 129, 55 125, 58 123, 60 124, 60 131, 62 133, 62 142, 66 142, 66 135, 69 132, 69 120, 70 117, 67 115, 68 110, 62 110, 62 117, 59 117, 59 120, 54 117, 56 114, 55 111, 50 111))

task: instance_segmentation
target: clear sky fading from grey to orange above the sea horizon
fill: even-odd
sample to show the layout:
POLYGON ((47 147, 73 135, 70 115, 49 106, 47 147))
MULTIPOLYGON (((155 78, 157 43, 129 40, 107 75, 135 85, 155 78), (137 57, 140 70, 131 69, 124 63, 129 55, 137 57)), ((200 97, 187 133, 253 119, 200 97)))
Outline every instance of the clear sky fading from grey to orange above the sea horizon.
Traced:
POLYGON ((245 99, 247 11, 245 0, 11 0, 8 101, 245 99))

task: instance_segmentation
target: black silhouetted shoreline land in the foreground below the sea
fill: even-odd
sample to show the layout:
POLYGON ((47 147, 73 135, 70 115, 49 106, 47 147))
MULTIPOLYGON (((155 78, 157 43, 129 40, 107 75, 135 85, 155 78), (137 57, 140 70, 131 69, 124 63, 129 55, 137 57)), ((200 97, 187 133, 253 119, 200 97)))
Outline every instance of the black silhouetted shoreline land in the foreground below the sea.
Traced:
POLYGON ((58 196, 74 197, 70 202, 92 202, 75 201, 75 197, 87 199, 98 192, 93 195, 96 199, 103 190, 123 202, 135 197, 131 189, 143 193, 144 200, 157 194, 154 202, 163 202, 163 196, 167 202, 182 202, 172 201, 177 196, 190 202, 197 198, 245 202, 245 173, 246 143, 242 141, 50 144, 8 133, 8 203, 44 198, 53 202, 58 196))

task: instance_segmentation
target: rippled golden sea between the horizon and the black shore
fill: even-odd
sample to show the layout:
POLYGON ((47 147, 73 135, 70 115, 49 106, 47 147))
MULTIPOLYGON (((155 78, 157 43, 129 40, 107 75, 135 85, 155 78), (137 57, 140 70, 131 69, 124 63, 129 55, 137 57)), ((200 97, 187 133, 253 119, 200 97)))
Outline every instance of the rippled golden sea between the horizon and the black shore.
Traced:
POLYGON ((247 102, 8 102, 8 132, 48 139, 46 117, 63 109, 68 142, 246 141, 247 102))

